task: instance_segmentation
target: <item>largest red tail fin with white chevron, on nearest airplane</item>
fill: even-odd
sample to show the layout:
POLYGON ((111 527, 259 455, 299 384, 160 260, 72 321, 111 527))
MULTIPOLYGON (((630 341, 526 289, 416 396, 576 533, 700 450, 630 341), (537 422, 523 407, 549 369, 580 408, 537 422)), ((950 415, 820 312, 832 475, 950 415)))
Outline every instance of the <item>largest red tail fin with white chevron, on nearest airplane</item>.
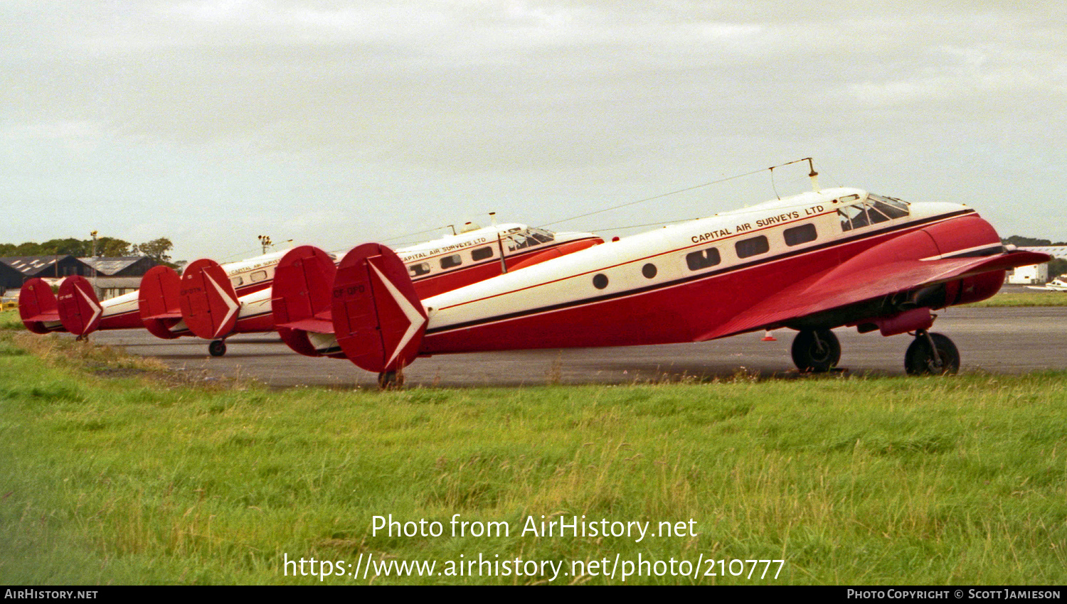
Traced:
POLYGON ((365 243, 345 256, 332 306, 337 343, 359 368, 388 372, 415 360, 428 320, 407 267, 388 247, 365 243))

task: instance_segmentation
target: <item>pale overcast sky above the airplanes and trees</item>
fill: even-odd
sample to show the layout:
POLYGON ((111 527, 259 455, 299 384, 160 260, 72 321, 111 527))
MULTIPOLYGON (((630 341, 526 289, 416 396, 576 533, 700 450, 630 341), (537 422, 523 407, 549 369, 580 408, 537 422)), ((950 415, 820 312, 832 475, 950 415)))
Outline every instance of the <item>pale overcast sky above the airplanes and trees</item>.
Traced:
MULTIPOLYGON (((347 249, 808 156, 824 186, 1067 240, 1065 40, 1062 0, 4 0, 0 243, 347 249)), ((774 196, 763 173, 554 228, 774 196)))

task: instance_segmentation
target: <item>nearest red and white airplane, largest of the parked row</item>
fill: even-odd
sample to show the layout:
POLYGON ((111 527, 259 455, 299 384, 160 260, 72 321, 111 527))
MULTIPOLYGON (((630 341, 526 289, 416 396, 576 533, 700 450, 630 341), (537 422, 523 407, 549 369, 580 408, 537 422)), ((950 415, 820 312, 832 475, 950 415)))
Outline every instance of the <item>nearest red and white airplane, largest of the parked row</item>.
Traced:
POLYGON ((959 354, 929 332, 934 310, 993 295, 1004 271, 1049 257, 1008 251, 957 203, 908 203, 829 189, 550 260, 426 299, 404 261, 379 244, 352 249, 333 287, 345 356, 379 383, 418 356, 519 348, 701 342, 799 331, 803 371, 833 368, 830 329, 913 332, 909 374, 953 373, 959 354))

